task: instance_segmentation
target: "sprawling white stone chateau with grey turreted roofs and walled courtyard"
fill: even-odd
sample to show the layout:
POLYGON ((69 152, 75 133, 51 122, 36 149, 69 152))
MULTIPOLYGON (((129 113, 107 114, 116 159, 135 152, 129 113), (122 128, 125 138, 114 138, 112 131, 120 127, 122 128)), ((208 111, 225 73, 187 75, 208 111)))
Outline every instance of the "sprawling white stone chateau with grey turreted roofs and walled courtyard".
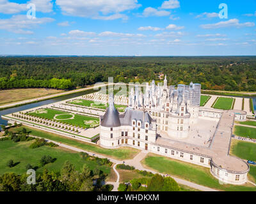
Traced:
POLYGON ((239 110, 200 108, 200 84, 146 85, 145 94, 131 89, 129 106, 118 113, 113 95, 100 116, 100 145, 133 147, 210 169, 223 184, 244 184, 250 166, 229 155, 234 120, 246 119, 239 110))

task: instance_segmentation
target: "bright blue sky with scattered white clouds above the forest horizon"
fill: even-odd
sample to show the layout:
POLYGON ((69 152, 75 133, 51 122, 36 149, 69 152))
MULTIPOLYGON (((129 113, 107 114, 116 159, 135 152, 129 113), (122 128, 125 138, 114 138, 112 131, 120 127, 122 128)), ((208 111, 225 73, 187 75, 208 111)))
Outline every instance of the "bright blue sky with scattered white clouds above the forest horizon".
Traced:
POLYGON ((0 55, 256 55, 256 1, 0 0, 0 55))

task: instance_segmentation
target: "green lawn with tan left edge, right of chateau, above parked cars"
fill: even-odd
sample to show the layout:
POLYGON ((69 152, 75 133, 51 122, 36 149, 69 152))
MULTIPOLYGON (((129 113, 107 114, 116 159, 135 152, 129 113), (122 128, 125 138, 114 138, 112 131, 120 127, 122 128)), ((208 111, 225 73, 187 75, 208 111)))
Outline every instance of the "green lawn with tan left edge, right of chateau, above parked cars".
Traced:
POLYGON ((230 152, 241 159, 256 161, 256 143, 232 140, 230 152))

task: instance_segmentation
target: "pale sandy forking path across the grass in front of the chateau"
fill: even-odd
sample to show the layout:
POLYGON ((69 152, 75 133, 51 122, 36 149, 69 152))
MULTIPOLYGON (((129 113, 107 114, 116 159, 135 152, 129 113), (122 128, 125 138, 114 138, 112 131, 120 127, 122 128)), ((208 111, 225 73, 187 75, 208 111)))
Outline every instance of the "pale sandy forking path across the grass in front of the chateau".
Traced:
MULTIPOLYGON (((38 136, 33 136, 35 138, 40 138, 38 136)), ((119 186, 119 180, 120 180, 120 175, 118 173, 118 171, 116 170, 116 165, 117 164, 122 164, 122 163, 125 163, 125 164, 128 164, 128 165, 131 165, 131 166, 134 166, 136 169, 138 170, 143 170, 143 171, 149 171, 149 172, 152 172, 154 174, 156 173, 159 173, 157 171, 153 171, 153 170, 149 170, 147 168, 144 168, 141 164, 141 161, 145 158, 145 156, 147 156, 148 152, 143 150, 141 151, 139 154, 137 154, 133 159, 129 159, 129 160, 125 160, 125 161, 120 161, 120 160, 117 160, 117 159, 113 159, 111 157, 108 157, 108 156, 102 156, 100 154, 95 154, 95 153, 92 153, 92 152, 89 152, 89 151, 86 151, 86 150, 83 150, 83 149, 79 149, 79 148, 76 148, 76 147, 72 147, 70 145, 65 145, 63 143, 59 143, 59 142, 55 142, 55 141, 52 141, 52 140, 46 140, 47 142, 52 142, 52 143, 55 143, 56 145, 59 145, 60 147, 63 147, 65 149, 70 149, 70 150, 73 150, 75 152, 85 152, 87 153, 88 155, 90 156, 94 156, 94 157, 99 157, 99 158, 108 158, 109 161, 111 161, 112 163, 115 163, 115 166, 113 167, 113 170, 115 171, 116 175, 117 175, 117 179, 116 179, 116 182, 106 182, 106 184, 112 184, 114 186, 113 188, 113 191, 117 191, 118 189, 118 186, 119 186)), ((160 175, 164 175, 163 173, 159 173, 160 175)), ((195 184, 193 182, 189 182, 187 180, 184 180, 184 179, 179 179, 177 177, 173 177, 172 175, 170 175, 170 177, 172 177, 178 184, 182 184, 182 185, 185 185, 185 186, 189 186, 189 187, 192 187, 194 189, 198 189, 200 191, 217 191, 216 189, 211 189, 209 187, 205 187, 205 186, 201 186, 201 185, 198 185, 198 184, 195 184)))

